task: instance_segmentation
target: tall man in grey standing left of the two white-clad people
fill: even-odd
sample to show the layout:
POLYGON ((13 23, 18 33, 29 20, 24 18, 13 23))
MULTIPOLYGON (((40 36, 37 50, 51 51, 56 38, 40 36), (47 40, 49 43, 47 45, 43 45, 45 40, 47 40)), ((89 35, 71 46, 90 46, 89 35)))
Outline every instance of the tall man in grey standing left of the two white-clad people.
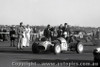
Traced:
POLYGON ((23 49, 23 45, 22 45, 22 38, 23 38, 23 22, 20 23, 20 26, 18 28, 18 45, 17 45, 17 49, 23 49))

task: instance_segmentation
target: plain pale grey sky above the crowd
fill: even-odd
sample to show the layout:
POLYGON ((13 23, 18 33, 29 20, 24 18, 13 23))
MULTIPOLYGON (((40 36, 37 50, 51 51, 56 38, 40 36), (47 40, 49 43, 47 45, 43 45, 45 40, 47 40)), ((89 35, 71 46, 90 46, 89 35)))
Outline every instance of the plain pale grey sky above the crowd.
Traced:
POLYGON ((0 0, 0 24, 100 26, 100 0, 0 0))

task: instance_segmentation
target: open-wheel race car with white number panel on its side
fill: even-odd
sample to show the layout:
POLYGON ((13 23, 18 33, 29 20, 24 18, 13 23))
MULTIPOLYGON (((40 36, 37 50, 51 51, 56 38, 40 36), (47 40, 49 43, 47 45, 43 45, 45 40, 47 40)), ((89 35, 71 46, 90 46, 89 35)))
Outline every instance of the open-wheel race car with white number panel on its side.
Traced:
POLYGON ((75 50, 77 53, 82 53, 84 45, 82 42, 70 42, 68 43, 65 38, 60 37, 50 42, 45 38, 42 38, 39 42, 34 42, 32 45, 33 53, 39 53, 43 51, 51 51, 55 54, 59 54, 62 51, 75 50))

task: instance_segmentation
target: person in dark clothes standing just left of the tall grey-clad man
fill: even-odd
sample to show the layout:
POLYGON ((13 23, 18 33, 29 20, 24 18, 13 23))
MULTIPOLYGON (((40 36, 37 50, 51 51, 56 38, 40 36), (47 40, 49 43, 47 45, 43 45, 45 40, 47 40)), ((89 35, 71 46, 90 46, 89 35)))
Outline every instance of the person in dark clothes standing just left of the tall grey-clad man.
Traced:
POLYGON ((11 47, 15 47, 15 39, 16 39, 16 31, 15 31, 15 28, 14 26, 11 27, 11 30, 10 30, 10 46, 11 47))

